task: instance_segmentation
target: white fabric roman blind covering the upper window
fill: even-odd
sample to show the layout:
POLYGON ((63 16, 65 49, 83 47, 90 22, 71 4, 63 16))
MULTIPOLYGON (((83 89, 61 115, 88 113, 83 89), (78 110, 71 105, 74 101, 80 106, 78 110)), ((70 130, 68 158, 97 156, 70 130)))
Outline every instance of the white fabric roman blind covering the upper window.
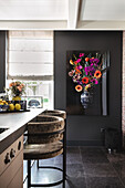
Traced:
POLYGON ((8 79, 53 79, 53 32, 9 31, 8 79))

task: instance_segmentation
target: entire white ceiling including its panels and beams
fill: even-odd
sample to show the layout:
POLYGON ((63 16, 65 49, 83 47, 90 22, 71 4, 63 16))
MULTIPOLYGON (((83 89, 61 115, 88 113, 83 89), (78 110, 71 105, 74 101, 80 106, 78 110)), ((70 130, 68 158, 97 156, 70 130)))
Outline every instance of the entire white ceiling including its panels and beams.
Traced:
POLYGON ((0 0, 0 30, 125 30, 125 0, 0 0))

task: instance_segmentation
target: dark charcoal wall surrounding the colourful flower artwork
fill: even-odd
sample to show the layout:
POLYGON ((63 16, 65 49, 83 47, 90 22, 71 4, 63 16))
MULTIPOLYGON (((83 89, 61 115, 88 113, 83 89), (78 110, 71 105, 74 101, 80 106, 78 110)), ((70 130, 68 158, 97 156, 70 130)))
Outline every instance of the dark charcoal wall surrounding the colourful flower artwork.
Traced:
MULTIPOLYGON (((122 129, 122 32, 55 31, 54 75, 55 108, 66 108, 66 51, 110 51, 107 116, 67 116, 67 140, 71 145, 103 145, 101 128, 122 129)), ((72 94, 71 94, 72 97, 72 94)))

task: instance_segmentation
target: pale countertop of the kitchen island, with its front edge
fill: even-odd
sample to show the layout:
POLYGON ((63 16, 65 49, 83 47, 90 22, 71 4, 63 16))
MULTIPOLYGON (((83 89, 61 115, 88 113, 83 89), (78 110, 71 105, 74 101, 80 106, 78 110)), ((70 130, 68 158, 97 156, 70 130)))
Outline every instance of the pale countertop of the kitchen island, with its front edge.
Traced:
POLYGON ((33 108, 30 112, 1 113, 0 128, 8 129, 0 134, 0 154, 24 133, 27 123, 43 111, 45 109, 33 108))

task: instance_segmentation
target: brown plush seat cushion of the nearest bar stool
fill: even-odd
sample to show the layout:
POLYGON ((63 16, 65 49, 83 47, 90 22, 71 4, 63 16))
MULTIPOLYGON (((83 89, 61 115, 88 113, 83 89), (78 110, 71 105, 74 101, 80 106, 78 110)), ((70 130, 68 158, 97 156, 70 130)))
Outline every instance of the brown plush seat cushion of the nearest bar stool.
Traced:
POLYGON ((46 159, 63 153, 63 143, 56 142, 51 144, 25 144, 23 156, 24 159, 46 159))

